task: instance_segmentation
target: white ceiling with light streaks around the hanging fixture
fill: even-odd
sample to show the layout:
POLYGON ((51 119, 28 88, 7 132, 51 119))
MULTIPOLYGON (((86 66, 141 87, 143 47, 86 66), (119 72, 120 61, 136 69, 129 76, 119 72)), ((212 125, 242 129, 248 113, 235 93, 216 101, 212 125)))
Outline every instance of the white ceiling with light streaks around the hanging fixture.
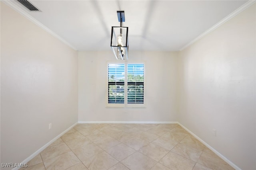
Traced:
POLYGON ((111 51, 111 27, 124 10, 129 50, 178 51, 230 15, 245 0, 30 0, 30 12, 11 0, 78 51, 111 51))

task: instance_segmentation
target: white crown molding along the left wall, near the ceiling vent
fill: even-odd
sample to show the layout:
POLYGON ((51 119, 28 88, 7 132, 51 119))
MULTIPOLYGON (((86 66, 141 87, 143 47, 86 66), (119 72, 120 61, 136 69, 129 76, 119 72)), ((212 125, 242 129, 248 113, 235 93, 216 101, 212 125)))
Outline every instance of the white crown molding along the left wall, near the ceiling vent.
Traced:
POLYGON ((14 9, 16 12, 20 13, 22 16, 24 16, 25 18, 27 18, 28 20, 32 21, 33 23, 35 23, 36 25, 38 25, 39 27, 41 27, 42 29, 44 29, 46 32, 50 33, 51 35, 53 35, 54 37, 56 37, 57 39, 59 39, 60 41, 62 41, 62 43, 68 45, 69 47, 71 47, 72 49, 74 49, 75 51, 77 51, 77 49, 72 46, 70 43, 68 43, 67 41, 65 41, 64 39, 62 39, 59 35, 57 35, 56 33, 54 33, 52 30, 50 30, 48 27, 46 27, 44 24, 40 23, 38 20, 36 20, 35 18, 33 18, 32 16, 30 16, 29 14, 27 14, 26 12, 24 12, 24 10, 22 10, 20 7, 18 7, 16 4, 14 4, 11 0, 0 0, 1 2, 3 2, 4 4, 10 6, 12 9, 14 9))

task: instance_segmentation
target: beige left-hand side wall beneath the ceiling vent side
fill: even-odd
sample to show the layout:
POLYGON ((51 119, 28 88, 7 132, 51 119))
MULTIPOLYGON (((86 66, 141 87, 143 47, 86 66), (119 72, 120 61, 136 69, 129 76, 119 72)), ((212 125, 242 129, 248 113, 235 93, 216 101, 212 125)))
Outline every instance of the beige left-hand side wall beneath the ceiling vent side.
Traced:
POLYGON ((77 122, 77 55, 1 3, 1 162, 22 162, 77 122))

